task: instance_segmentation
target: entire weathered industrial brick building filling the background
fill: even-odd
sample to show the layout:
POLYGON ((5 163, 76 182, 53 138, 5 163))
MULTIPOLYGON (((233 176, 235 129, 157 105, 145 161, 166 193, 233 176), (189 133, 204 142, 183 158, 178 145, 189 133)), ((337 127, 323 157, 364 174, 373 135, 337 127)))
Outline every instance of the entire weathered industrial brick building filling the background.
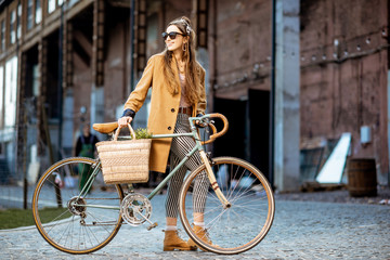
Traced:
MULTIPOLYGON (((276 63, 278 72, 297 75, 280 79, 298 83, 294 95, 282 90, 283 102, 292 96, 298 110, 276 118, 285 135, 275 160, 286 164, 276 167, 277 188, 300 184, 299 157, 288 155, 299 156, 300 139, 334 140, 342 132, 352 133, 350 156, 375 158, 378 180, 387 183, 388 10, 385 0, 276 1, 286 28, 289 15, 298 21, 298 41, 284 35, 288 29, 276 34, 276 54, 286 62, 276 63), (287 3, 298 8, 294 15, 287 3), (290 125, 298 135, 288 135, 290 125), (362 127, 370 130, 368 143, 361 143, 362 127)), ((51 156, 70 156, 83 121, 116 120, 147 58, 164 50, 160 32, 181 15, 192 18, 198 35, 208 108, 231 122, 214 154, 248 159, 273 180, 270 0, 0 1, 0 156, 6 174, 21 174, 34 160, 44 167, 51 156)), ((288 106, 283 102, 276 99, 276 106, 288 106)), ((144 126, 146 117, 144 106, 135 125, 144 126)))

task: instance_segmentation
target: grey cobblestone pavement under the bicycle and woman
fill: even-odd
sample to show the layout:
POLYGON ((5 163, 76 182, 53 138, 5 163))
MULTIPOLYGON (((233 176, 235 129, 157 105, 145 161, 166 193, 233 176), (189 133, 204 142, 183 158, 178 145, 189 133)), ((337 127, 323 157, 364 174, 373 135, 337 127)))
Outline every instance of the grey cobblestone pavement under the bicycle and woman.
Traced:
POLYGON ((275 219, 265 238, 247 252, 220 256, 164 252, 164 200, 165 195, 152 200, 158 227, 123 225, 106 247, 87 256, 52 248, 35 226, 0 231, 0 259, 390 259, 390 206, 276 196, 275 219))

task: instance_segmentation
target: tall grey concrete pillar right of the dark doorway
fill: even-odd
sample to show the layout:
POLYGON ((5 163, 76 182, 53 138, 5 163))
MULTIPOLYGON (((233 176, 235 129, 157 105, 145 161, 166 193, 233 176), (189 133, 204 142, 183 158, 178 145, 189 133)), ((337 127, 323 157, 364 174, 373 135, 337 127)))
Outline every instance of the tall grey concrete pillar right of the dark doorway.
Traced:
POLYGON ((288 192, 300 185, 299 0, 277 0, 275 12, 274 185, 288 192))

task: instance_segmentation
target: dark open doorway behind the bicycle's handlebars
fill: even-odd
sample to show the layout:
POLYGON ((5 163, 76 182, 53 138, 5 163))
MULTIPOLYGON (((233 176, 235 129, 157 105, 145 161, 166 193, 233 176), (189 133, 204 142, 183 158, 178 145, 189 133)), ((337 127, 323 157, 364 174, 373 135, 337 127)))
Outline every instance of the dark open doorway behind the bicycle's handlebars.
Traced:
POLYGON ((214 98, 214 112, 227 118, 229 131, 213 144, 213 156, 248 160, 270 180, 270 91, 249 90, 247 100, 214 98))

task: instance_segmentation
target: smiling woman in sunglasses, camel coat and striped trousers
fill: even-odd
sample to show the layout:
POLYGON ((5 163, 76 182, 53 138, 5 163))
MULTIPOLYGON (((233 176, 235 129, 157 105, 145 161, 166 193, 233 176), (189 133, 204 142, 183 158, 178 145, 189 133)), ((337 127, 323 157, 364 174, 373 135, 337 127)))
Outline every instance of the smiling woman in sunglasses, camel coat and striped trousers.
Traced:
MULTIPOLYGON (((123 115, 118 119, 119 127, 125 127, 132 121, 151 87, 151 114, 147 128, 153 134, 190 132, 188 117, 205 114, 205 69, 196 61, 195 32, 191 28, 191 21, 184 16, 172 21, 162 32, 162 37, 166 49, 148 60, 141 80, 125 104, 123 115)), ((170 167, 173 169, 194 145, 195 142, 191 138, 153 140, 151 170, 165 172, 169 154, 170 167)), ((192 171, 200 164, 200 156, 197 153, 169 182, 164 250, 196 250, 193 240, 185 242, 177 233, 178 200, 186 170, 192 171)), ((208 187, 207 181, 206 174, 203 174, 195 184, 196 212, 193 229, 199 237, 209 242, 206 238, 203 213, 206 198, 202 196, 208 187)))

